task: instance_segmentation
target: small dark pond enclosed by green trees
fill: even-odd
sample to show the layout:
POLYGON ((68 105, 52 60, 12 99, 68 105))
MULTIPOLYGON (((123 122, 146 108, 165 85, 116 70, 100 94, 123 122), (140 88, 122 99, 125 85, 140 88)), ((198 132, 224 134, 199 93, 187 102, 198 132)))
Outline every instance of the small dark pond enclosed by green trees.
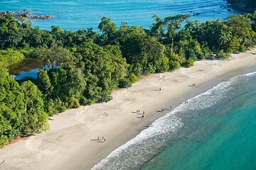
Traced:
POLYGON ((39 69, 46 68, 42 60, 35 58, 26 58, 18 64, 13 64, 9 69, 9 73, 14 75, 15 79, 23 79, 24 77, 36 78, 39 69))

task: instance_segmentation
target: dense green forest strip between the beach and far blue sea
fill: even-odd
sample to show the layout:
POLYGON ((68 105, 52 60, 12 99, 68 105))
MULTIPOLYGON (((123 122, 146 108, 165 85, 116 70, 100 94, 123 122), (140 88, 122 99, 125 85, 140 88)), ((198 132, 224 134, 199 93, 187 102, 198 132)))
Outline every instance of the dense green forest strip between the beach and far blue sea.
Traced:
POLYGON ((0 147, 17 135, 48 130, 48 115, 111 100, 111 92, 129 87, 144 74, 191 67, 196 60, 227 58, 256 44, 256 12, 227 21, 188 21, 189 15, 160 18, 150 29, 120 28, 103 17, 101 33, 33 28, 14 16, 0 18, 0 68, 43 59, 36 79, 16 81, 0 69, 0 147))

